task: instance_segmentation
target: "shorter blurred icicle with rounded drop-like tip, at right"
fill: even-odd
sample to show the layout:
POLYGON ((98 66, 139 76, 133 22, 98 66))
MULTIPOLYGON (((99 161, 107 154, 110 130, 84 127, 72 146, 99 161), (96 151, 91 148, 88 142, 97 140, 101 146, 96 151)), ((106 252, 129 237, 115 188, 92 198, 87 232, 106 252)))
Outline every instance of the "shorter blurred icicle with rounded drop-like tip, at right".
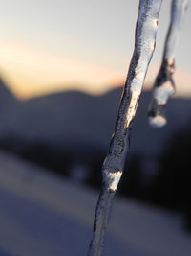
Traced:
POLYGON ((180 27, 188 6, 189 0, 172 0, 171 20, 165 40, 163 58, 156 78, 153 97, 149 106, 149 123, 159 128, 166 124, 164 106, 175 93, 175 52, 180 39, 180 27))

